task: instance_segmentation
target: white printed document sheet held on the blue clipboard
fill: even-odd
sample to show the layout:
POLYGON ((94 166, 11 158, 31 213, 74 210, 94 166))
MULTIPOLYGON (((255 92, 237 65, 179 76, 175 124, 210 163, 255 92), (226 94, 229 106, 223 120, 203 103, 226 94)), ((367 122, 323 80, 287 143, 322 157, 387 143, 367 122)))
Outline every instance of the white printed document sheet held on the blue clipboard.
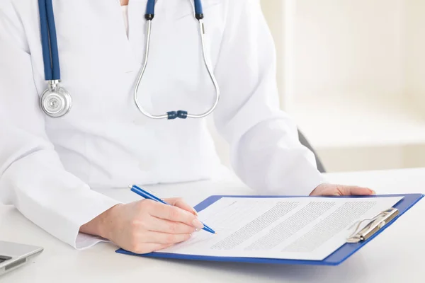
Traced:
MULTIPOLYGON (((222 197, 199 213, 217 234, 159 253, 237 258, 323 260, 346 243, 358 221, 393 207, 402 197, 222 197)), ((364 221, 360 229, 368 221, 364 221)))

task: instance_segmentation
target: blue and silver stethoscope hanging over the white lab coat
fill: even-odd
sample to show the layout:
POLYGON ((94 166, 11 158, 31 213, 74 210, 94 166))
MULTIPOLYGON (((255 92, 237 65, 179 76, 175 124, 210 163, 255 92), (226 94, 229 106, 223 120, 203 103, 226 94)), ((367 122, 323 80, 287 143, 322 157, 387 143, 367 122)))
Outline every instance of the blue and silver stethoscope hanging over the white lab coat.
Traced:
MULTIPOLYGON (((145 57, 144 63, 140 70, 140 74, 137 77, 137 82, 134 88, 134 101, 137 109, 152 119, 169 119, 173 120, 176 118, 203 118, 210 115, 211 112, 217 107, 220 99, 220 88, 217 80, 210 67, 210 62, 207 59, 205 50, 205 26, 203 23, 203 7, 200 0, 194 0, 195 18, 199 23, 199 35, 203 50, 203 61, 205 67, 208 70, 210 79, 215 87, 215 102, 210 110, 201 114, 190 114, 185 110, 169 111, 164 115, 152 115, 147 112, 138 101, 137 93, 140 87, 140 81, 142 81, 143 75, 147 67, 147 61, 149 59, 149 47, 150 47, 150 35, 152 30, 152 20, 154 19, 155 0, 147 1, 147 8, 145 13, 145 19, 147 21, 147 36, 145 42, 145 57)), ((42 43, 42 57, 44 63, 45 80, 47 81, 47 89, 42 93, 40 97, 40 107, 50 117, 62 117, 66 115, 72 108, 72 97, 65 88, 60 86, 60 62, 59 52, 57 48, 57 35, 55 27, 55 16, 53 13, 52 0, 38 0, 38 6, 40 10, 40 30, 41 30, 41 43, 42 43)))

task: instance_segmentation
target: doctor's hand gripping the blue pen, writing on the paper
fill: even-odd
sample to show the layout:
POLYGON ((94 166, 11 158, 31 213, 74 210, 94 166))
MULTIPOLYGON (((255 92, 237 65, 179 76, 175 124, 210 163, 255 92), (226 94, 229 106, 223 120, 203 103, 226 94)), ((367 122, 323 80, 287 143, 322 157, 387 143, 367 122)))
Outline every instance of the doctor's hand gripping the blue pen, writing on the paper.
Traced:
POLYGON ((171 205, 140 200, 118 204, 80 231, 107 238, 132 253, 151 253, 187 241, 202 229, 196 211, 179 198, 167 199, 171 205), (96 231, 95 233, 93 233, 96 231))

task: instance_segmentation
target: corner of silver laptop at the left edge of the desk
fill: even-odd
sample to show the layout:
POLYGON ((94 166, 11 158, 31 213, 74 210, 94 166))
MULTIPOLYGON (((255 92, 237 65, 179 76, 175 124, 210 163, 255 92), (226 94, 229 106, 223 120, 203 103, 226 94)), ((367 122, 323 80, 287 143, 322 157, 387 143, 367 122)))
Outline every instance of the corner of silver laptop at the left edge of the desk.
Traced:
POLYGON ((21 267, 42 250, 40 247, 0 241, 0 275, 21 267))

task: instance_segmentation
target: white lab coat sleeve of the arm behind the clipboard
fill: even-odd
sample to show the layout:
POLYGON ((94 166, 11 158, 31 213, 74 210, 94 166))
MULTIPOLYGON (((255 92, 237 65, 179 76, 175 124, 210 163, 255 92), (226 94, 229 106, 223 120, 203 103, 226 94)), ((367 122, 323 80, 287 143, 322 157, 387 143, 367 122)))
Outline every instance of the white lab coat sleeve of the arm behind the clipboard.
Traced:
MULTIPOLYGON (((218 132, 239 178, 264 193, 309 195, 325 183, 297 126, 279 108, 276 52, 259 0, 228 0, 215 74, 218 132)), ((312 117, 314 119, 314 117, 312 117)))

